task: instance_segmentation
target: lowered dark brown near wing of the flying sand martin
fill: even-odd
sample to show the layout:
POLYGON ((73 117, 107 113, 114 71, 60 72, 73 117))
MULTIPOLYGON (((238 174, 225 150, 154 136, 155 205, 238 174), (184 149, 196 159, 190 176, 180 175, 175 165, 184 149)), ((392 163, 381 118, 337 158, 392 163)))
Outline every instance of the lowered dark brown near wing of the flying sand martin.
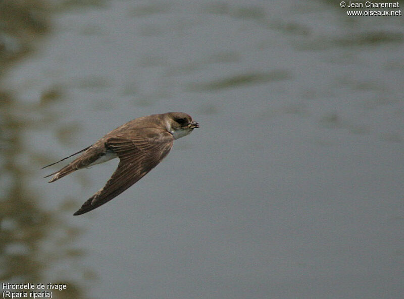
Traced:
POLYGON ((90 197, 74 215, 91 211, 118 196, 167 156, 173 146, 173 136, 168 132, 154 131, 148 130, 148 138, 118 136, 108 139, 107 147, 120 159, 118 168, 104 188, 90 197))

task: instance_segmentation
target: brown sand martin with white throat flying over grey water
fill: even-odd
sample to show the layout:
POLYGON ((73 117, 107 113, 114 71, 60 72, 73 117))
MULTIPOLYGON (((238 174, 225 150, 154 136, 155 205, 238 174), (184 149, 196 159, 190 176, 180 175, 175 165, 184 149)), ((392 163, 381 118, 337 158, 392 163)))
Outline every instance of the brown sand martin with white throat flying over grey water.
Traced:
POLYGON ((77 169, 119 158, 118 168, 104 188, 73 214, 81 215, 105 204, 139 181, 167 156, 175 139, 190 134, 195 128, 199 128, 198 123, 183 112, 138 117, 111 131, 93 145, 42 168, 82 153, 61 170, 46 175, 53 175, 49 181, 52 183, 77 169))

